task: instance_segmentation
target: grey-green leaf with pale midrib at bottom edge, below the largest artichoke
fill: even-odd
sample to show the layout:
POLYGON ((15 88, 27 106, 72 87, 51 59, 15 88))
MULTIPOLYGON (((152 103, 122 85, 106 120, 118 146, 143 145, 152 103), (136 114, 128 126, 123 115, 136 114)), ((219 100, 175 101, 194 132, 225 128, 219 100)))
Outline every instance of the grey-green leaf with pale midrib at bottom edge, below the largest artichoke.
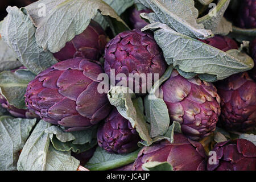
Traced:
POLYGON ((79 160, 71 152, 57 151, 45 130, 51 124, 41 120, 27 139, 18 160, 19 171, 76 171, 79 160))

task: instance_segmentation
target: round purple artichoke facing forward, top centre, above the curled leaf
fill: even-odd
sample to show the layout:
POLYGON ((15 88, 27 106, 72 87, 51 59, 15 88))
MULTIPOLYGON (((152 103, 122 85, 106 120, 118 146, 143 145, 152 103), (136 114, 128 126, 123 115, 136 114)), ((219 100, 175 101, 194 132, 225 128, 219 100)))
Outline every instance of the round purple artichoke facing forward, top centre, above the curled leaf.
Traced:
MULTIPOLYGON (((147 88, 147 84, 152 84, 156 81, 155 74, 160 78, 166 71, 167 64, 163 57, 163 52, 155 42, 153 35, 150 32, 142 32, 138 29, 132 31, 124 31, 106 45, 105 48, 105 72, 110 77, 110 69, 113 69, 115 76, 118 73, 123 73, 127 78, 127 86, 135 93, 144 93, 143 88, 147 88), (129 76, 152 74, 152 78, 144 81, 137 81, 129 76), (143 74, 144 73, 144 74, 143 74), (129 84, 132 82, 134 85, 129 84), (131 88, 132 87, 132 88, 131 88), (136 91, 138 90, 138 91, 136 91)), ((121 80, 124 77, 121 77, 121 80)), ((119 80, 115 78, 115 84, 119 80)), ((153 85, 153 84, 152 84, 153 85)), ((146 89, 148 91, 148 89, 146 89)), ((145 92, 146 93, 146 92, 145 92)))

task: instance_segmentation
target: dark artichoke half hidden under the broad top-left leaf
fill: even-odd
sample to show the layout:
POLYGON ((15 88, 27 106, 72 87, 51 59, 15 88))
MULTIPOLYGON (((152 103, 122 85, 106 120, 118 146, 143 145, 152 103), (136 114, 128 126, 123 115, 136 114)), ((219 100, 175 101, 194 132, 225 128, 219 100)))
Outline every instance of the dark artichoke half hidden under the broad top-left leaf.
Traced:
POLYGON ((95 22, 90 21, 88 27, 71 41, 59 52, 54 53, 58 61, 72 59, 74 57, 84 57, 90 60, 99 60, 104 53, 106 46, 106 34, 103 28, 95 22))

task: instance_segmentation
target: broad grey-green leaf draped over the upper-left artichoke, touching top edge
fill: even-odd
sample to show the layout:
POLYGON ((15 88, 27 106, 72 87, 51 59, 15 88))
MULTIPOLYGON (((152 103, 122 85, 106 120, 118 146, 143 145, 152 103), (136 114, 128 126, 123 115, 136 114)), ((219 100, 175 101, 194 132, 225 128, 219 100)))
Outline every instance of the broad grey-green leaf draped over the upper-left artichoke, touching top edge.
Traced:
MULTIPOLYGON (((112 22, 121 22, 122 27, 129 30, 129 27, 112 7, 102 0, 52 0, 51 2, 41 0, 25 7, 25 9, 37 27, 36 42, 44 50, 48 49, 52 53, 60 51, 67 42, 81 34, 89 25, 90 20, 98 13, 98 10, 102 15, 112 17, 112 22), (44 12, 46 16, 38 18, 39 15, 36 10, 38 10, 40 3, 45 5, 41 8, 42 10, 48 8, 49 10, 48 13, 44 12)), ((118 24, 117 22, 114 25, 118 24)))

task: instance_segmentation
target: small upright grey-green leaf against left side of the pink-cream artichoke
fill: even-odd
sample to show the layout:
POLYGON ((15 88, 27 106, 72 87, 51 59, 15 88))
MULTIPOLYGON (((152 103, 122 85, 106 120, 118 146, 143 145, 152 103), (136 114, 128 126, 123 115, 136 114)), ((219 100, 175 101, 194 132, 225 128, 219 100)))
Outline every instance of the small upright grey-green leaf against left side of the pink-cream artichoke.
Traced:
POLYGON ((158 137, 164 135, 170 125, 170 117, 168 108, 163 101, 159 98, 159 87, 166 81, 172 73, 173 67, 170 65, 164 75, 155 82, 150 90, 150 93, 144 98, 144 106, 147 122, 150 123, 150 137, 158 137))

